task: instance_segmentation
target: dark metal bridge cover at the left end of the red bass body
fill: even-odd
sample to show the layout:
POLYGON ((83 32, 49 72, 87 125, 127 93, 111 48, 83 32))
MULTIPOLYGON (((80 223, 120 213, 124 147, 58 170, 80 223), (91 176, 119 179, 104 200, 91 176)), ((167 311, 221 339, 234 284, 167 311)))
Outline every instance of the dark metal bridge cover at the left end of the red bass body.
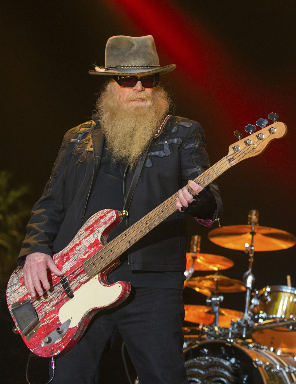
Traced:
POLYGON ((18 323, 20 332, 26 336, 27 340, 30 340, 40 326, 40 321, 31 301, 17 301, 17 303, 13 303, 11 310, 18 323))

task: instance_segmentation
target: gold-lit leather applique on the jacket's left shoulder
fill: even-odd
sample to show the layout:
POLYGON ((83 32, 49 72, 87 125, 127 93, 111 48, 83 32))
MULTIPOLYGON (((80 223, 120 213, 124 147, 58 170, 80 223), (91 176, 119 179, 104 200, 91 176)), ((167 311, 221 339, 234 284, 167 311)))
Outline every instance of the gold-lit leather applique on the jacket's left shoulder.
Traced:
POLYGON ((93 152, 93 141, 91 139, 91 122, 86 124, 81 124, 77 127, 78 131, 74 131, 76 134, 74 139, 71 139, 69 142, 74 143, 74 148, 72 150, 73 155, 79 155, 79 162, 83 162, 89 152, 93 152))

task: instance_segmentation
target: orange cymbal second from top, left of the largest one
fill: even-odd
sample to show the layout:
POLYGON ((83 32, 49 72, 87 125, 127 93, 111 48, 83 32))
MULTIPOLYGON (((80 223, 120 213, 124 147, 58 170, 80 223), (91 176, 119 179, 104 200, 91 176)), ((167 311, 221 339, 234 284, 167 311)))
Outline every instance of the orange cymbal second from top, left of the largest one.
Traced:
POLYGON ((233 266, 233 261, 227 257, 210 255, 208 253, 186 253, 186 269, 192 267, 192 258, 194 260, 195 271, 220 271, 233 266))

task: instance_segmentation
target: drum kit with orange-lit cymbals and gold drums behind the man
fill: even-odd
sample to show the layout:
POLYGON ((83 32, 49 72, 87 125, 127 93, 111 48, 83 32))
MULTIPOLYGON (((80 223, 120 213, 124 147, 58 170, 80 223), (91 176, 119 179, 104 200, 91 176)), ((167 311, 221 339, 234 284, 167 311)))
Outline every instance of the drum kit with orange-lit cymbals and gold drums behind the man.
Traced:
POLYGON ((248 255, 243 281, 221 274, 232 260, 200 253, 200 237, 192 236, 187 253, 185 286, 206 297, 207 305, 185 305, 184 354, 190 383, 296 384, 296 288, 266 286, 253 291, 254 251, 282 250, 296 244, 288 232, 258 225, 250 210, 248 225, 209 232, 215 244, 248 255), (210 275, 192 277, 195 271, 210 275), (220 308, 224 293, 245 292, 244 311, 220 308))

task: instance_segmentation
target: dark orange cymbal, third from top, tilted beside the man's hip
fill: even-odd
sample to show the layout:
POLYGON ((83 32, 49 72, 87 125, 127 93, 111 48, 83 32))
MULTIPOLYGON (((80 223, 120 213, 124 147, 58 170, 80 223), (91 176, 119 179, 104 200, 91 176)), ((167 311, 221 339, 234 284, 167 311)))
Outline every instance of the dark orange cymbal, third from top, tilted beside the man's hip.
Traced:
POLYGON ((184 284, 189 288, 206 289, 213 293, 232 293, 246 290, 243 281, 231 279, 222 275, 193 277, 184 281, 184 284))

